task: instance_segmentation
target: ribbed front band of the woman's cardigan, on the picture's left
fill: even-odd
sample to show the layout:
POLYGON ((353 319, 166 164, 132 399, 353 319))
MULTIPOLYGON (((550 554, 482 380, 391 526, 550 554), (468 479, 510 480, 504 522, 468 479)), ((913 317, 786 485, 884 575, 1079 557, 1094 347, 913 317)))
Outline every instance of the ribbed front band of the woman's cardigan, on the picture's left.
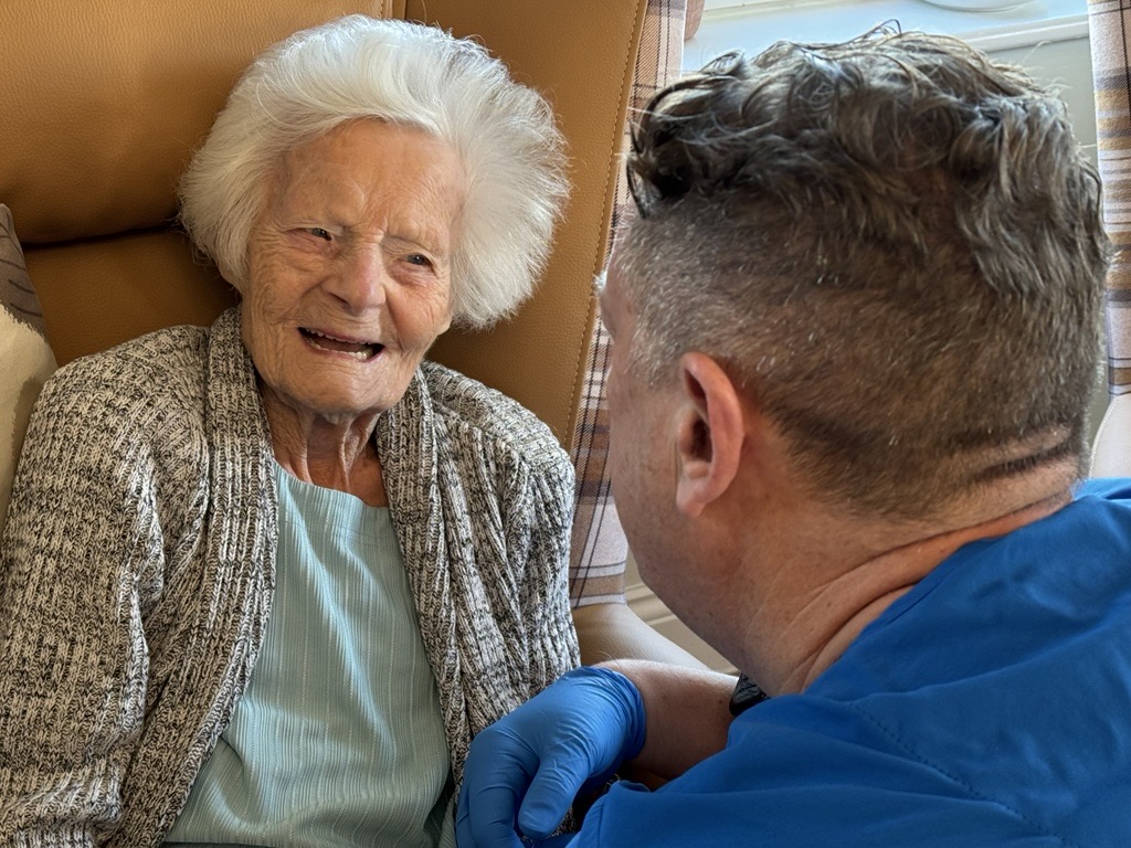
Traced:
MULTIPOLYGON (((259 655, 275 579, 276 500, 270 434, 254 369, 240 339, 239 311, 213 325, 205 348, 207 505, 193 557, 197 597, 181 623, 187 663, 164 683, 165 707, 147 719, 132 768, 161 775, 157 819, 123 822, 116 845, 156 845, 232 719, 259 655), (152 762, 146 762, 152 760, 152 762)), ((152 803, 152 798, 149 799, 152 803)))

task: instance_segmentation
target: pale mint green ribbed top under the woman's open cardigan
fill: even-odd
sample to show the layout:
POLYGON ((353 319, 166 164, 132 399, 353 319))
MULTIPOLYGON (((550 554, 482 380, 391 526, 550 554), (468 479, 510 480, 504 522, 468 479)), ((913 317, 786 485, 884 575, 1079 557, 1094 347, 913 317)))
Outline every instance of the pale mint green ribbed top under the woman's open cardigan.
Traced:
POLYGON ((389 510, 276 478, 262 654, 166 846, 454 848, 440 700, 389 510))

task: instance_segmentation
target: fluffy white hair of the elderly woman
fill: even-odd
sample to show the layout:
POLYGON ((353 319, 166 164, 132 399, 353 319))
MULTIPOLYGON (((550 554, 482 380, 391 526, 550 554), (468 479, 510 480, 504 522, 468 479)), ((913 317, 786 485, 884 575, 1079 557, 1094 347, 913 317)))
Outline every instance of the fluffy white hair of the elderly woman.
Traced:
POLYGON ((452 317, 513 311, 545 266, 567 194, 546 101, 484 47, 435 27, 351 15, 268 49, 244 72, 181 180, 193 244, 242 288, 264 188, 296 145, 359 119, 451 145, 466 199, 452 251, 452 317))

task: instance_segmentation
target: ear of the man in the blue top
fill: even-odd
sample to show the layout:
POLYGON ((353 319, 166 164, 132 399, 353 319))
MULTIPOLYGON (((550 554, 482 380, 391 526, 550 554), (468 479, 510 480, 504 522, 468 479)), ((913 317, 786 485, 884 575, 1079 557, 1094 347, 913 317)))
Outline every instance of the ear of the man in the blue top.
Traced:
POLYGON ((680 358, 682 392, 676 413, 676 505, 697 517, 734 482, 745 435, 742 399, 710 356, 680 358))

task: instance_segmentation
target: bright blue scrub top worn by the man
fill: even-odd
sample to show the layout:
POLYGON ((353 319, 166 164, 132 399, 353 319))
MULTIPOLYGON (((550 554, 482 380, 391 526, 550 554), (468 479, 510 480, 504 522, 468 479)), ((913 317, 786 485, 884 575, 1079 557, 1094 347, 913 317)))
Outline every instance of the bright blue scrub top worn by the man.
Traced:
POLYGON ((592 846, 1131 845, 1131 482, 968 544, 592 846))

